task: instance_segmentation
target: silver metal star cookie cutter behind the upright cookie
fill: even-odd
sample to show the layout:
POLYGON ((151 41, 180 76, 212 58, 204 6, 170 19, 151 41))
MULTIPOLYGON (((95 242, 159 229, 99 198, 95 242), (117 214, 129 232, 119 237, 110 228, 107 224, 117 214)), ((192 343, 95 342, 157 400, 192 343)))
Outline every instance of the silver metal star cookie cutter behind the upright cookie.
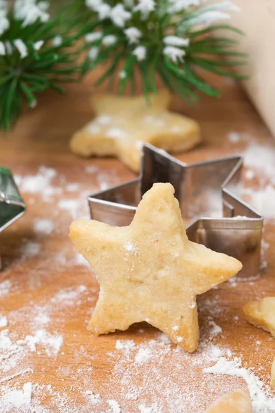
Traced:
POLYGON ((242 167, 241 156, 186 164, 146 144, 139 178, 89 196, 91 218, 115 226, 129 225, 142 195, 155 182, 170 182, 181 215, 185 222, 189 220, 189 240, 236 257, 243 263, 239 274, 255 277, 261 264, 263 216, 240 198, 242 167), (217 211, 219 206, 219 218, 209 217, 209 211, 217 211), (199 218, 190 222, 194 215, 199 218))

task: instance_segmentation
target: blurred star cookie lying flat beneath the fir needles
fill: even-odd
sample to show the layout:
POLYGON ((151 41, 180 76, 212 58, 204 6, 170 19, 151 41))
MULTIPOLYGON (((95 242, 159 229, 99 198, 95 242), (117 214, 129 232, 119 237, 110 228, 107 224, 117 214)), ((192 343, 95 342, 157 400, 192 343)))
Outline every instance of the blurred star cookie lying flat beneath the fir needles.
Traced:
POLYGON ((80 156, 115 156, 133 171, 140 170, 144 142, 168 152, 185 151, 201 141, 195 120, 168 112, 166 90, 144 96, 96 95, 91 105, 96 118, 76 132, 70 142, 80 156))

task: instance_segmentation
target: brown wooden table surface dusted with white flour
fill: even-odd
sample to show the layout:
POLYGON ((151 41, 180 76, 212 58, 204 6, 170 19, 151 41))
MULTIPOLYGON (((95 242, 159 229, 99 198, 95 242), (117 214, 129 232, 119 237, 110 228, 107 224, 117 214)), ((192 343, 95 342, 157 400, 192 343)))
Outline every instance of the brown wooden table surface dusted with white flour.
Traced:
MULTIPOLYGON (((65 97, 41 96, 39 106, 0 140, 0 165, 17 176, 28 205, 23 218, 0 234, 0 314, 8 318, 8 326, 0 328, 0 412, 204 412, 224 392, 247 388, 245 372, 259 377, 265 394, 273 397, 270 410, 255 402, 254 411, 275 412, 275 393, 268 388, 275 341, 250 326, 241 311, 251 299, 274 295, 275 221, 270 217, 265 221, 261 276, 225 282, 199 297, 201 342, 195 354, 166 342, 146 323, 98 338, 87 330, 98 284, 67 237, 69 224, 88 216, 88 193, 134 176, 115 159, 85 160, 69 152, 70 136, 91 119, 90 84, 87 78, 69 87, 65 97), (36 337, 36 346, 25 339, 28 335, 36 337), (4 336, 14 352, 10 341, 3 344, 4 336), (203 372, 217 363, 213 349, 225 359, 240 360, 243 370, 239 366, 239 373, 229 376, 203 372), (21 374, 28 369, 32 371, 21 374), (22 404, 28 382, 32 400, 22 404)), ((196 118, 203 133, 203 144, 178 158, 194 162, 246 153, 251 147, 256 153, 259 148, 260 156, 265 147, 269 162, 275 141, 254 107, 235 83, 220 81, 219 86, 222 98, 203 97, 196 108, 175 100, 175 109, 196 118)), ((250 167, 256 178, 245 185, 255 193, 272 180, 266 167, 265 159, 262 169, 250 167)))

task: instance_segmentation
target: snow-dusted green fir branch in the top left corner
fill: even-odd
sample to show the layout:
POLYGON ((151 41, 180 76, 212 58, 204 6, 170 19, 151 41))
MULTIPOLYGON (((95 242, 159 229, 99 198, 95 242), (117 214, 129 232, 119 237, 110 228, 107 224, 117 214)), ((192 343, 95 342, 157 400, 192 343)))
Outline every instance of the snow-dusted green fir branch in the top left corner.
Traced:
POLYGON ((72 24, 68 7, 50 17, 45 4, 17 0, 8 7, 1 2, 5 25, 0 20, 0 128, 5 131, 17 121, 25 102, 33 108, 37 94, 49 88, 63 93, 61 84, 81 76, 83 45, 78 40, 85 30, 77 20, 72 24))

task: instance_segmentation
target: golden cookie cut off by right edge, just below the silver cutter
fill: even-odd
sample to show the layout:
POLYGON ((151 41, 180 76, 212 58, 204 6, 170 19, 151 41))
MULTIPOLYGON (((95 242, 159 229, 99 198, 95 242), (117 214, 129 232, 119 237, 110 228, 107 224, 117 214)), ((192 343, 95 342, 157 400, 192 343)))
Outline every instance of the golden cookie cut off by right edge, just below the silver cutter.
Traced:
POLYGON ((275 297, 250 301, 243 306, 243 313, 250 324, 271 332, 275 337, 275 297))

